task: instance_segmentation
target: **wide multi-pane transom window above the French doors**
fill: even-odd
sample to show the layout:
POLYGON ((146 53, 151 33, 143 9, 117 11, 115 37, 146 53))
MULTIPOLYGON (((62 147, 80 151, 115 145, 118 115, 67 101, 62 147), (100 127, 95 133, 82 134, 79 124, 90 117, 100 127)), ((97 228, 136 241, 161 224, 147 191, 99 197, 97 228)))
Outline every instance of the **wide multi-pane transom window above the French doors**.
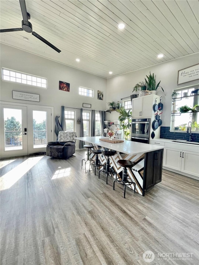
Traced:
POLYGON ((2 79, 6 81, 32 85, 41 88, 47 88, 47 79, 35 75, 29 75, 22 72, 2 68, 2 79))

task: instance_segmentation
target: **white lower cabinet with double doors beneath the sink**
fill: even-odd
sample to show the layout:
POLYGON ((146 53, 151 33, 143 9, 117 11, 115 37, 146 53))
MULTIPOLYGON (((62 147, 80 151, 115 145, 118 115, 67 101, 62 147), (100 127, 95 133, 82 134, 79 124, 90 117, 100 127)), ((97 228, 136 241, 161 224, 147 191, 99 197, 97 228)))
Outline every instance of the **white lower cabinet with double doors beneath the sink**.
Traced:
POLYGON ((198 153, 164 148, 164 167, 172 168, 193 176, 199 176, 198 165, 198 153))

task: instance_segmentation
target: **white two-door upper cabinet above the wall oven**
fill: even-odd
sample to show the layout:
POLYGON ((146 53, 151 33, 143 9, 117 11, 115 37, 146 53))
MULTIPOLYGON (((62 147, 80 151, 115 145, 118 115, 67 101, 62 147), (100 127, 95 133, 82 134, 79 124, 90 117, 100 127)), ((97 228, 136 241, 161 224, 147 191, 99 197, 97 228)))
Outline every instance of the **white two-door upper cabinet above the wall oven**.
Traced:
POLYGON ((160 97, 157 95, 147 95, 132 100, 132 118, 147 118, 152 117, 153 104, 160 102, 160 97))

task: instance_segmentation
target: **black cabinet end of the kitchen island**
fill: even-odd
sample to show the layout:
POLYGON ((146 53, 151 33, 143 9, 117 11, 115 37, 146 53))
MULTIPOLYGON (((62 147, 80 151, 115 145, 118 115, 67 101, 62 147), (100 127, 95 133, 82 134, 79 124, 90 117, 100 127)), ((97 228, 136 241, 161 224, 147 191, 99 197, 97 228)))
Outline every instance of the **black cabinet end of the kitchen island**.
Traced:
POLYGON ((145 190, 148 190, 162 180, 163 150, 160 149, 146 153, 145 176, 143 179, 145 190))

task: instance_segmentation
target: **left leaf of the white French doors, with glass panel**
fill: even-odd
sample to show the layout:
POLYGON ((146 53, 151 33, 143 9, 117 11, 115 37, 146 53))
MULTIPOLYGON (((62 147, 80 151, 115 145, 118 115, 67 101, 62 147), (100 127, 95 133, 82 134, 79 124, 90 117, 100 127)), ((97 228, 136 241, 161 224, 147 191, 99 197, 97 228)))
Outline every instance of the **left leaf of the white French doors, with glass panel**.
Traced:
POLYGON ((1 158, 28 154, 27 107, 1 105, 1 158))

